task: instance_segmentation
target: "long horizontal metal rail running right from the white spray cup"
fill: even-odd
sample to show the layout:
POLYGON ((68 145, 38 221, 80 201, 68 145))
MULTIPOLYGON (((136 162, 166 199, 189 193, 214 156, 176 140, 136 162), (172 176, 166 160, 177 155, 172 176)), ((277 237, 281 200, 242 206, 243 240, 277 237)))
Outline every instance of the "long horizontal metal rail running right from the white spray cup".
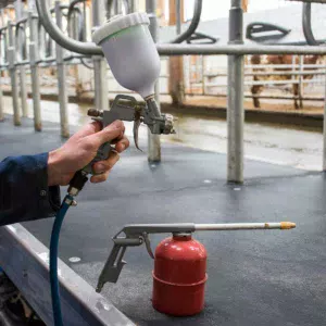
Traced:
POLYGON ((326 54, 326 47, 247 45, 156 45, 161 55, 326 54))

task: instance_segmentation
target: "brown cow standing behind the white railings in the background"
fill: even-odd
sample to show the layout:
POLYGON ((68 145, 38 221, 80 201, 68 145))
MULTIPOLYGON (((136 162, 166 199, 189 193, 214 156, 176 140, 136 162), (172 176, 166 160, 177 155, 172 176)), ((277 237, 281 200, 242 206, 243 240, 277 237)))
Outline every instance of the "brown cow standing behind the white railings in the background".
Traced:
MULTIPOLYGON (((316 64, 319 62, 322 59, 322 55, 303 55, 303 63, 304 64, 316 64)), ((280 55, 259 55, 254 54, 250 59, 251 64, 271 64, 271 68, 254 68, 253 73, 255 72, 291 72, 292 68, 274 68, 273 65, 275 64, 292 64, 292 55, 289 54, 280 54, 280 55)), ((299 57, 296 55, 296 64, 299 64, 299 57)), ((296 68, 299 71, 299 68, 296 68)), ((309 71, 312 71, 314 68, 306 68, 309 71)), ((253 76, 253 80, 290 80, 290 79, 298 79, 298 75, 292 76, 292 75, 264 75, 264 76, 253 76)), ((313 75, 303 75, 303 79, 311 79, 313 75)), ((286 84, 286 83, 285 83, 286 84)), ((253 96, 259 96, 264 89, 264 85, 253 85, 251 87, 251 93, 253 96)), ((292 84, 292 92, 294 96, 294 106, 296 109, 299 109, 298 105, 298 96, 299 96, 299 84, 292 84)), ((254 108, 261 108, 260 100, 258 97, 253 98, 253 105, 254 108)), ((303 108, 302 100, 300 99, 300 109, 303 108)))

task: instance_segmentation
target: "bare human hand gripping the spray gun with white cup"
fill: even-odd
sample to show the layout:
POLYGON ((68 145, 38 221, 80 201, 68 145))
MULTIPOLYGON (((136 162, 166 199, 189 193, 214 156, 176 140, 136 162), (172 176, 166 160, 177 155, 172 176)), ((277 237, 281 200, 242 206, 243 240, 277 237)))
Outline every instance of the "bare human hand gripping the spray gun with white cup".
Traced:
POLYGON ((91 162, 99 147, 110 141, 115 143, 115 151, 110 152, 108 160, 93 164, 92 168, 96 175, 90 178, 90 181, 95 184, 106 180, 110 171, 120 160, 118 153, 129 147, 129 141, 124 136, 125 126, 121 121, 115 121, 102 130, 101 128, 99 122, 88 124, 73 135, 61 148, 49 153, 49 186, 68 185, 74 174, 91 162))

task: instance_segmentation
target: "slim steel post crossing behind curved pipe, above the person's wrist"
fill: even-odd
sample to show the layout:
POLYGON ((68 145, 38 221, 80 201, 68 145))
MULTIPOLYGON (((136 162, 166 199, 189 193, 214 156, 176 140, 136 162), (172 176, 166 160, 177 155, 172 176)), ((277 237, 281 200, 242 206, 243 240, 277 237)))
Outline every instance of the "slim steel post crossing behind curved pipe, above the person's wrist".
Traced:
MULTIPOLYGON (((55 1, 55 21, 58 27, 62 28, 62 13, 60 9, 60 1, 55 1)), ((58 71, 58 90, 59 90, 59 105, 60 105, 60 124, 61 124, 61 136, 70 137, 68 127, 68 114, 67 114, 67 89, 65 78, 65 65, 63 61, 63 49, 61 46, 55 43, 57 53, 57 71, 58 71)))

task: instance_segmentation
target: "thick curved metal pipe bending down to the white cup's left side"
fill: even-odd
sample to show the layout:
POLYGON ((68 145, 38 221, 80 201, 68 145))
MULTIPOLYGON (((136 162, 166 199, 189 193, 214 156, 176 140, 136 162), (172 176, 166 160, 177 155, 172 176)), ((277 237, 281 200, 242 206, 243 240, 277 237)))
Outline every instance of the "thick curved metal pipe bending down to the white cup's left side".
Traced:
POLYGON ((102 49, 92 42, 80 42, 64 35, 52 22, 47 1, 36 0, 39 20, 51 38, 64 49, 88 55, 103 55, 102 49))

